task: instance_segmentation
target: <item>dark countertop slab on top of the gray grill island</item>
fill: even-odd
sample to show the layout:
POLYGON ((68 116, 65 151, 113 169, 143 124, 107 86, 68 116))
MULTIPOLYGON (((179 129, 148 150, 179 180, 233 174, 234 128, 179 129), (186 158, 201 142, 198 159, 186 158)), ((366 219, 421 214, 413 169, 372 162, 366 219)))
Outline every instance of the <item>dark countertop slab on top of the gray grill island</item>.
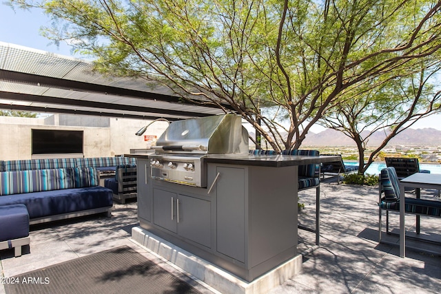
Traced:
MULTIPOLYGON (((176 154, 175 154, 176 155, 176 154)), ((127 154, 134 158, 148 158, 149 154, 127 154)), ((207 154, 205 162, 226 165, 252 165, 259 167, 291 167, 340 160, 338 156, 292 156, 251 154, 207 154)))

